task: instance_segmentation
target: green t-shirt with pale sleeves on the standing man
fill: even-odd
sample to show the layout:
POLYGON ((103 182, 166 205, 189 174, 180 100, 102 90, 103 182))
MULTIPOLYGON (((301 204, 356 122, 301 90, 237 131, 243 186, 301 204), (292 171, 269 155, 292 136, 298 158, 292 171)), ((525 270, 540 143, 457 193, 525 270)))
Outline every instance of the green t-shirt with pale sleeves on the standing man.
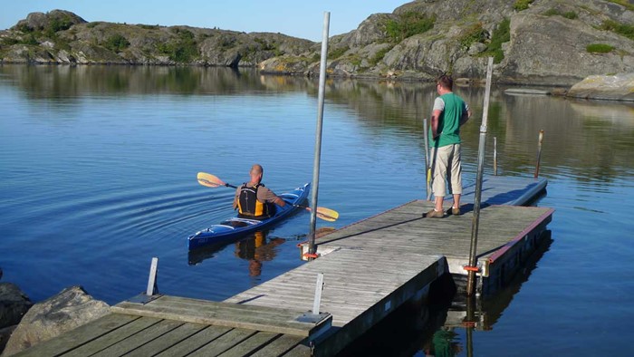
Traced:
POLYGON ((466 113, 468 107, 462 98, 453 92, 441 95, 434 103, 434 110, 440 109, 438 118, 438 137, 432 138, 429 130, 429 141, 432 147, 440 148, 451 144, 460 143, 460 118, 466 113), (438 102, 440 101, 440 102, 438 102))

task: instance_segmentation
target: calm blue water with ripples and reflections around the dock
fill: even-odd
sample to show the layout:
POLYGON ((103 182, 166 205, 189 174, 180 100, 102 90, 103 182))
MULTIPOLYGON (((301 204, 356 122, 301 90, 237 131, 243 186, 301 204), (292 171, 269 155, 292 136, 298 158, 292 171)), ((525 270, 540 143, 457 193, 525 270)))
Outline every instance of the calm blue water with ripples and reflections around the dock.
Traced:
MULTIPOLYGON (((473 184, 484 89, 456 92, 475 110, 463 134, 473 184)), ((327 83, 319 205, 341 218, 318 227, 424 198, 421 118, 434 94, 421 83, 327 83)), ((233 213, 233 190, 198 185, 198 171, 238 184, 259 162, 276 192, 310 181, 316 82, 226 69, 2 65, 0 109, 0 267, 35 302, 82 285, 116 304, 145 290, 153 256, 161 293, 210 300, 303 264, 305 212, 264 243, 250 237, 188 256, 186 238, 233 213)), ((545 130, 549 184, 537 205, 556 209, 553 241, 524 282, 491 303, 488 331, 451 329, 452 353, 629 355, 634 106, 494 87, 488 124, 486 161, 496 137, 501 175, 533 175, 545 130)), ((390 348, 423 356, 430 339, 390 348)))

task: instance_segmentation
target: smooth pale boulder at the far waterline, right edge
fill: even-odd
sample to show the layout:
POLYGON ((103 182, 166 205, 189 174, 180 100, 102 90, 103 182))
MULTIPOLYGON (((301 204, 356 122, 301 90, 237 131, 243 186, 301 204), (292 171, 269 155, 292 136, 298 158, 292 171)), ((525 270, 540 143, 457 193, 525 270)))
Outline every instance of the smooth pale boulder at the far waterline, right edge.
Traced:
POLYGON ((574 84, 567 95, 585 99, 634 101, 634 72, 591 75, 574 84))

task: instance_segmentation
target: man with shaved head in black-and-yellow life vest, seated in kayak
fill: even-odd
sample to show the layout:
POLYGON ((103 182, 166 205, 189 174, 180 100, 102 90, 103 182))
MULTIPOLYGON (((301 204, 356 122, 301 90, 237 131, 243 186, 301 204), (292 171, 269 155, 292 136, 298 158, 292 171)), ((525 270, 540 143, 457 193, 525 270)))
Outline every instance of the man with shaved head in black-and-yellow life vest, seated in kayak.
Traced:
POLYGON ((282 198, 260 183, 263 174, 262 166, 255 164, 249 171, 251 180, 235 189, 234 209, 238 208, 238 217, 264 219, 275 214, 274 204, 286 205, 282 198))

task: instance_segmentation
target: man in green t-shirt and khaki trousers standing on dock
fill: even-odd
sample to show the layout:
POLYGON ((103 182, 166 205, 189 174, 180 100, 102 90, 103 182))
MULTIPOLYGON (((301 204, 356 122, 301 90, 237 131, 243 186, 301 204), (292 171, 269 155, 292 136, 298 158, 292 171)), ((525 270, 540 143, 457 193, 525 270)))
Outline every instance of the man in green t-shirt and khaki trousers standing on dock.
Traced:
POLYGON ((432 192, 435 207, 424 217, 442 218, 443 200, 447 193, 454 196, 454 204, 447 214, 460 215, 460 196, 462 195, 462 166, 460 165, 460 126, 471 117, 469 106, 452 89, 454 81, 448 75, 441 75, 436 83, 438 97, 434 101, 431 114, 431 171, 432 192))

